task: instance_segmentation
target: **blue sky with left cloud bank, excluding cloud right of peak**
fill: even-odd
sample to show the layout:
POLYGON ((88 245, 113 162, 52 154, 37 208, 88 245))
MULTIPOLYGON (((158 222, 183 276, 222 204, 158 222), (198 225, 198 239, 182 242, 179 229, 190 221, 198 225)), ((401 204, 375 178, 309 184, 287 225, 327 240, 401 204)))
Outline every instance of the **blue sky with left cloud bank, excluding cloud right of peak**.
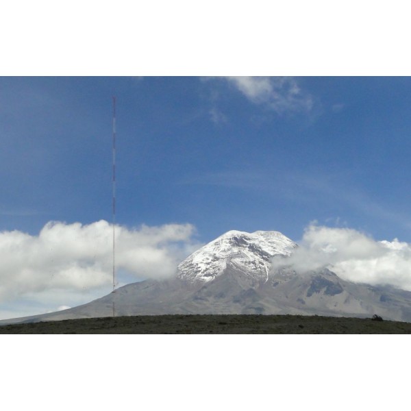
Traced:
POLYGON ((112 97, 121 286, 171 275, 230 229, 411 243, 410 89, 410 77, 1 77, 1 316, 110 292, 112 97))

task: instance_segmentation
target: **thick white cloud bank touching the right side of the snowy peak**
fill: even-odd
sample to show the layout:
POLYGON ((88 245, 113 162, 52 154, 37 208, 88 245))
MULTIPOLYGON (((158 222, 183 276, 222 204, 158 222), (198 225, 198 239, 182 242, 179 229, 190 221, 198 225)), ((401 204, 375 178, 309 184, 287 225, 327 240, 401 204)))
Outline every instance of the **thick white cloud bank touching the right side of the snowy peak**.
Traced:
MULTIPOLYGON (((273 268, 284 263, 274 258, 273 268)), ((286 264, 300 272, 327 266, 352 282, 411 290, 411 245, 396 238, 376 241, 354 229, 310 225, 286 264)))

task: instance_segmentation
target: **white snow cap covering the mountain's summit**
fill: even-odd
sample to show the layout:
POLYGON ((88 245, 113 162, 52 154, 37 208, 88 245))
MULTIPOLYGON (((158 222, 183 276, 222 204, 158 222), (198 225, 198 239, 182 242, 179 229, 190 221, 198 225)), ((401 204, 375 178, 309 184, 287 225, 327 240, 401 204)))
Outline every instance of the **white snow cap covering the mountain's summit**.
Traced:
POLYGON ((290 256, 295 247, 295 242, 279 232, 250 234, 232 230, 188 256, 179 264, 177 277, 190 282, 210 282, 231 264, 238 271, 266 281, 271 258, 290 256))

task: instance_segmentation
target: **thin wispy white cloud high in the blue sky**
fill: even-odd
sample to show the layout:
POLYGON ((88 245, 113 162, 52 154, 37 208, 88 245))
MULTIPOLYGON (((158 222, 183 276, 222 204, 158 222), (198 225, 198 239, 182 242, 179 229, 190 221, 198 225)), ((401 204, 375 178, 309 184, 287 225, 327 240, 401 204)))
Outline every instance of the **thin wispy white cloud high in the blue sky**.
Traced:
POLYGON ((284 114, 285 112, 310 111, 313 100, 303 92, 292 77, 223 77, 247 99, 256 104, 284 114))

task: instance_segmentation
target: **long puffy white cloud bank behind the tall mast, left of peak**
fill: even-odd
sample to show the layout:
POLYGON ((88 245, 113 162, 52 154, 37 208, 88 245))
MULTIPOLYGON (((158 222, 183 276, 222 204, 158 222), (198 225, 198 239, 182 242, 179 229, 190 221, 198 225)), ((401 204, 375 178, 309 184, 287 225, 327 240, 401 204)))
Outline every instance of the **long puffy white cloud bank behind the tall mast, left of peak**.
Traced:
MULTIPOLYGON (((116 266, 138 279, 173 275, 196 247, 194 232, 190 224, 116 226, 116 266)), ((36 301, 40 295, 42 304, 72 305, 112 284, 112 225, 53 222, 38 236, 2 232, 0 259, 1 303, 23 297, 36 301), (64 296, 70 301, 63 301, 64 296)))

